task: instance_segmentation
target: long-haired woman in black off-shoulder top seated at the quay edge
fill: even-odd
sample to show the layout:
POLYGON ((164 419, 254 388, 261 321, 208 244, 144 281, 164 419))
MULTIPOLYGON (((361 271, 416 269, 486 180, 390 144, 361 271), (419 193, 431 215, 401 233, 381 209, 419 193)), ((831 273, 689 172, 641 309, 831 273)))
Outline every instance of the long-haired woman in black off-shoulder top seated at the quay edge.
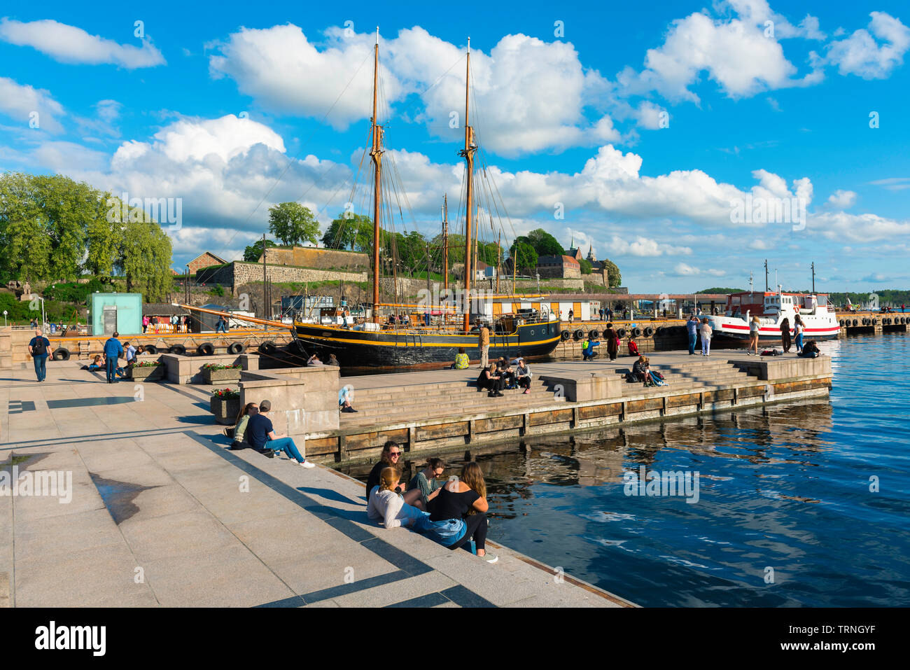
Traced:
POLYGON ((438 543, 458 549, 464 545, 487 563, 499 557, 486 550, 487 539, 487 482, 476 462, 467 462, 461 476, 452 478, 440 489, 430 513, 430 536, 438 543))

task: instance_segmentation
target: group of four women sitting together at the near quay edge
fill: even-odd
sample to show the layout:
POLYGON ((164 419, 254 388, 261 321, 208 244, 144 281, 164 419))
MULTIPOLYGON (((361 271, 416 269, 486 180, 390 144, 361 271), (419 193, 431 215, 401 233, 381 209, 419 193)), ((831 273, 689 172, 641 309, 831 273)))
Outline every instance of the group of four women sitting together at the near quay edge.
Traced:
POLYGON ((367 515, 386 528, 408 525, 449 547, 463 547, 487 563, 499 557, 486 549, 487 484, 477 462, 467 462, 458 477, 443 479, 446 464, 427 459, 405 486, 401 482, 402 448, 386 442, 382 457, 367 478, 367 515))

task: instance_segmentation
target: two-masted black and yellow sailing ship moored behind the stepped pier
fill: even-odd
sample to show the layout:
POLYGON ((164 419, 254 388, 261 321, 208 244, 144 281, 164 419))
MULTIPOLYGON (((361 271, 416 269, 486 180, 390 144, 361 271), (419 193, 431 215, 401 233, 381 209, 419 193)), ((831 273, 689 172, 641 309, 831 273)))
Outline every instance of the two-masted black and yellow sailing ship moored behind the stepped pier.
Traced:
MULTIPOLYGON (((463 289, 460 299, 454 299, 456 291, 448 291, 452 299, 436 304, 414 305, 399 302, 383 302, 380 297, 380 221, 383 198, 383 131, 379 125, 379 32, 377 31, 373 61, 373 115, 371 117, 371 144, 369 157, 373 167, 373 240, 372 240, 372 300, 371 315, 362 323, 349 325, 323 325, 295 320, 291 328, 293 341, 291 349, 298 355, 316 354, 328 359, 335 354, 341 365, 355 368, 401 368, 439 367, 440 363, 454 360, 460 349, 465 350, 471 360, 480 360, 479 320, 474 318, 480 310, 476 305, 472 280, 475 278, 477 262, 477 240, 474 228, 474 160, 478 150, 474 128, 470 126, 470 40, 467 49, 464 148, 459 155, 465 159, 466 171, 463 185, 465 194, 465 250, 463 289), (459 303, 461 303, 459 305, 459 303), (386 313, 413 310, 407 323, 389 320, 386 313), (424 317, 424 315, 426 315, 424 317), (425 318, 420 325, 415 319, 425 318), (433 323, 432 320, 436 322, 433 323), (394 322, 391 322, 394 321, 394 322)), ((478 211, 480 208, 478 208, 478 211)), ((479 216, 479 215, 478 215, 479 216)), ((448 249, 448 248, 447 248, 448 249)), ((513 262, 514 266, 515 263, 513 262)), ((445 262, 445 289, 448 289, 448 259, 445 262)), ((497 271, 499 268, 497 268, 497 271)), ((428 277, 430 268, 427 268, 428 277)), ((514 289, 513 289, 514 290, 514 289)), ((395 291, 396 296, 398 291, 395 291)), ((508 296, 485 296, 485 298, 508 298, 508 296)), ((527 296, 515 296, 516 301, 527 296)), ((485 318, 484 324, 490 330, 490 359, 508 356, 511 358, 536 358, 546 356, 560 342, 558 316, 540 314, 501 314, 492 319, 485 318)))

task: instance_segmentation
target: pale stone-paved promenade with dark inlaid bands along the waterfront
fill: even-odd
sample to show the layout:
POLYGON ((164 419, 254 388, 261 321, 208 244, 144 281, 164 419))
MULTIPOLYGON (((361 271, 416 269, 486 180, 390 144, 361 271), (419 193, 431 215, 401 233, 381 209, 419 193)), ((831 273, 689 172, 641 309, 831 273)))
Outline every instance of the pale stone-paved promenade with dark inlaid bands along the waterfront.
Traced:
POLYGON ((0 373, 0 471, 72 476, 69 503, 0 497, 0 606, 626 604, 504 547, 490 565, 387 531, 339 472, 227 451, 206 387, 78 368, 0 373))

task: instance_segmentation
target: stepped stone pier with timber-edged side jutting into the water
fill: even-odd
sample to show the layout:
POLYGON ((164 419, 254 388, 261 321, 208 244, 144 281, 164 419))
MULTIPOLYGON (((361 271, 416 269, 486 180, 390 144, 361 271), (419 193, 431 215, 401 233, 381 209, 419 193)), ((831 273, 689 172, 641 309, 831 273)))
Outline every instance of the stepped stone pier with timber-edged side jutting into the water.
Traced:
POLYGON ((375 457, 387 440, 410 452, 439 452, 466 444, 503 442, 530 435, 583 431, 770 402, 827 396, 831 359, 747 356, 717 350, 710 357, 687 352, 649 354, 666 386, 624 381, 636 357, 531 363, 531 393, 479 392, 476 369, 345 377, 357 413, 341 414, 339 427, 305 435, 317 462, 375 457))

